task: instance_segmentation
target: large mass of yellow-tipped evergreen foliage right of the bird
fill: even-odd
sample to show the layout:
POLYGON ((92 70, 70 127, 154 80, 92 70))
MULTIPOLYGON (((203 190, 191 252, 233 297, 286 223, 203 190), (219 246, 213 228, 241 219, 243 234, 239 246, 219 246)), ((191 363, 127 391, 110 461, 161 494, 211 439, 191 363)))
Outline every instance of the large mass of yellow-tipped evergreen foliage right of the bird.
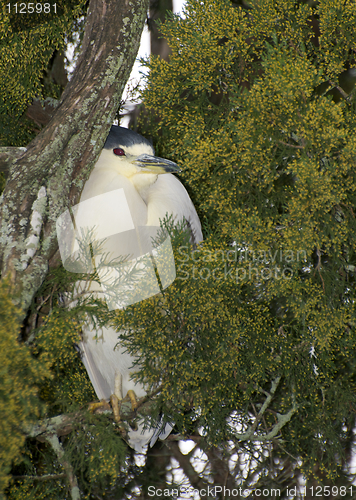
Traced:
POLYGON ((207 238, 176 249, 174 284, 120 327, 152 384, 163 369, 167 415, 184 431, 189 410, 212 444, 282 376, 266 428, 295 404, 285 449, 334 477, 356 402, 355 92, 339 79, 354 4, 250 4, 192 1, 162 26, 172 54, 148 63, 145 130, 184 165, 207 238))

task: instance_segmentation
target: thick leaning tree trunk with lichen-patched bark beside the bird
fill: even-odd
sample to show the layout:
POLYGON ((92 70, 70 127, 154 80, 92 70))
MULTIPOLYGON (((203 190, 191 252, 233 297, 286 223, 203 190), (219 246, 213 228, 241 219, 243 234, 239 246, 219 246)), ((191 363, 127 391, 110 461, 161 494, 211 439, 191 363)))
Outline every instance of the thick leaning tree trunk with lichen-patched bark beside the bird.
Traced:
POLYGON ((147 8, 148 0, 90 1, 73 77, 49 124, 10 167, 0 214, 0 263, 24 315, 49 268, 59 262, 56 220, 77 203, 100 154, 147 8))

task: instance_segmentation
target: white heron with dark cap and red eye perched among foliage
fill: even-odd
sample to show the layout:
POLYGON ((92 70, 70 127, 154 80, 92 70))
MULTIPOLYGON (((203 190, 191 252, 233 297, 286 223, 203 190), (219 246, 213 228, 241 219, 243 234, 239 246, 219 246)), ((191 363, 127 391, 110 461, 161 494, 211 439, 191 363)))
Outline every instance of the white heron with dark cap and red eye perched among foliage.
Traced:
MULTIPOLYGON (((200 221, 187 191, 171 173, 177 171, 179 168, 172 161, 154 156, 154 149, 147 139, 131 130, 112 126, 77 205, 77 224, 78 221, 82 227, 93 224, 99 231, 96 238, 105 242, 105 251, 112 254, 115 250, 115 256, 129 256, 136 261, 140 256, 148 255, 152 236, 159 232, 160 222, 167 216, 171 216, 175 224, 186 224, 191 241, 199 243, 203 239, 200 221), (151 231, 145 233, 146 229, 151 231)), ((132 269, 132 260, 130 262, 132 269)), ((142 262, 139 270, 140 266, 145 267, 142 262)), ((152 276, 155 279, 154 273, 152 276)), ((117 282, 114 280, 114 283, 117 282)), ((140 281, 135 283, 136 298, 131 297, 125 303, 125 297, 119 293, 118 304, 114 300, 111 309, 150 295, 146 285, 141 286, 140 281)), ((77 292, 80 287, 78 284, 77 292)), ((90 284, 95 294, 99 293, 99 288, 90 284)), ((130 287, 125 289, 123 286, 122 289, 129 291, 130 287)), ((107 292, 110 302, 112 297, 109 296, 107 292)), ((83 327, 80 348, 99 399, 108 400, 113 394, 119 399, 127 393, 130 396, 134 393, 137 398, 146 395, 143 385, 131 379, 138 368, 133 367, 135 357, 120 345, 120 332, 111 327, 98 329, 88 321, 83 327)), ((129 431, 128 441, 132 448, 141 452, 146 444, 154 444, 158 434, 164 439, 170 431, 169 425, 162 431, 144 430, 141 423, 137 430, 129 431)))

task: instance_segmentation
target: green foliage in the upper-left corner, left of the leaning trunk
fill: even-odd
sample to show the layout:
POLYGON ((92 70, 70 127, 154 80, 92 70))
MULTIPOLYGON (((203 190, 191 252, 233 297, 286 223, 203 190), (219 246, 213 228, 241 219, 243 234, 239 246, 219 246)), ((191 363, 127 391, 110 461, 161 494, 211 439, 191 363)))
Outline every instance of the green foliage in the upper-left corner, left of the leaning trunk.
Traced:
POLYGON ((85 0, 58 0, 57 13, 52 7, 48 14, 16 13, 10 3, 10 12, 6 2, 0 6, 0 143, 26 146, 34 129, 24 113, 35 97, 59 98, 59 86, 45 87, 44 76, 54 51, 64 49, 73 19, 83 14, 85 0))

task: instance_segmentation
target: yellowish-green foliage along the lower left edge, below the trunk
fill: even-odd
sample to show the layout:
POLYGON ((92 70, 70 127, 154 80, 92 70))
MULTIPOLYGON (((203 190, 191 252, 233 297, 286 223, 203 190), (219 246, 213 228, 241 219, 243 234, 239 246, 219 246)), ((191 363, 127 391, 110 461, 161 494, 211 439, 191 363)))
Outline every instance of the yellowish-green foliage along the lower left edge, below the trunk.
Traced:
POLYGON ((0 494, 9 480, 11 462, 20 459, 25 427, 43 409, 37 385, 49 376, 46 365, 33 359, 29 348, 18 342, 19 317, 4 281, 0 284, 0 494))

